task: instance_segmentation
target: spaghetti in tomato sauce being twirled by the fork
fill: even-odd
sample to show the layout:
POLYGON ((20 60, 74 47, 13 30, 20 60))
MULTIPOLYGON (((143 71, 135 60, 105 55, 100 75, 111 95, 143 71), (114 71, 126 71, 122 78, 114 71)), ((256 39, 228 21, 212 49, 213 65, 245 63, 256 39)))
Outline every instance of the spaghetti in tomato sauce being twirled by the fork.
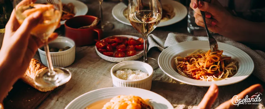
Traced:
POLYGON ((207 52, 195 50, 186 57, 175 58, 178 73, 185 77, 218 81, 230 78, 237 72, 237 61, 223 55, 223 50, 207 52))

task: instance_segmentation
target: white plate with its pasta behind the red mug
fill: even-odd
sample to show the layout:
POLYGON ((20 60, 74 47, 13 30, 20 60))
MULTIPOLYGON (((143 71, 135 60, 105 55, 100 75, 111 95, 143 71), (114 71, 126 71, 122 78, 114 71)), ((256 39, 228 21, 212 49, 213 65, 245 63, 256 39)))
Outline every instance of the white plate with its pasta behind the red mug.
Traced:
POLYGON ((61 25, 65 24, 65 21, 75 17, 86 15, 88 7, 83 2, 77 0, 62 0, 62 16, 60 19, 61 25))

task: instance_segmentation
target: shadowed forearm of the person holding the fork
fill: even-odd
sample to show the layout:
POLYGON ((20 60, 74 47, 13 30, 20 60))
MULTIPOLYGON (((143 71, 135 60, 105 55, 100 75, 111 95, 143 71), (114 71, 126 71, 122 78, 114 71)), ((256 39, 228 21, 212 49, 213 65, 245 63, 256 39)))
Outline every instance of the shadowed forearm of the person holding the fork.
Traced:
POLYGON ((265 23, 247 21, 234 17, 227 29, 221 35, 238 42, 251 44, 255 48, 264 50, 265 47, 265 23))

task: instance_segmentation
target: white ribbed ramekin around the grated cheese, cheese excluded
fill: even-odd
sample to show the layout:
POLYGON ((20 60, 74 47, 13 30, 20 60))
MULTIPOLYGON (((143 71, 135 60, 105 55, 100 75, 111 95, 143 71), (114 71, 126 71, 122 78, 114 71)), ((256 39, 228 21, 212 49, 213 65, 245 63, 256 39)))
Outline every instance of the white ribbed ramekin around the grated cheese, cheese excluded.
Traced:
POLYGON ((151 90, 153 68, 145 62, 124 61, 114 65, 110 70, 110 72, 111 72, 113 87, 134 87, 134 88, 151 90), (141 70, 142 72, 148 73, 148 77, 136 81, 123 80, 114 75, 114 73, 116 73, 116 71, 120 69, 141 70))

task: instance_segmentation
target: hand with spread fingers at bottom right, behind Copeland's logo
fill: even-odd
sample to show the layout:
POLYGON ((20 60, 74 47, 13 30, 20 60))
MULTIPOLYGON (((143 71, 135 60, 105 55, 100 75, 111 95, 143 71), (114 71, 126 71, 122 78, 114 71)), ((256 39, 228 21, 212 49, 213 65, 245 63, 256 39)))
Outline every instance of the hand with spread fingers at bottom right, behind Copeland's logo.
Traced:
MULTIPOLYGON (((216 100, 217 96, 218 96, 218 92, 219 89, 215 84, 212 84, 209 88, 209 90, 206 92, 205 96, 203 97, 203 99, 201 100, 200 104, 198 105, 198 109, 210 109, 212 104, 214 103, 214 101, 216 100)), ((240 92, 239 94, 237 94, 238 98, 236 99, 243 99, 245 98, 247 95, 248 97, 251 97, 253 95, 255 95, 255 93, 257 92, 263 92, 263 88, 260 84, 255 84, 250 86, 249 88, 243 90, 242 92, 240 92)), ((235 100, 233 99, 233 103, 235 103, 235 100)), ((249 108, 249 106, 251 105, 234 105, 232 103, 232 98, 222 104, 220 104, 218 107, 216 107, 216 109, 234 109, 234 108, 249 108)))

